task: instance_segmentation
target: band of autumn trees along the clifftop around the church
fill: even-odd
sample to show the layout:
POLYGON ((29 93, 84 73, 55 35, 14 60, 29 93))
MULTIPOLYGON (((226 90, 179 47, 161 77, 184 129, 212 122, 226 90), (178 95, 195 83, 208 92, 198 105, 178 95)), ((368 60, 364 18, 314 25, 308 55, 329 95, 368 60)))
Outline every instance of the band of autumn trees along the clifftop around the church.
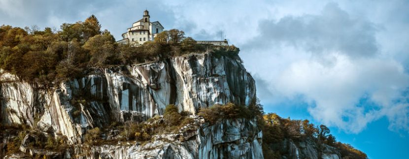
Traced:
POLYGON ((89 67, 146 63, 209 49, 217 55, 239 50, 235 46, 197 44, 176 29, 161 32, 143 45, 118 44, 110 32, 101 31, 94 15, 84 22, 64 23, 56 32, 51 28, 39 31, 37 27, 0 26, 0 68, 45 87, 80 77, 89 67))

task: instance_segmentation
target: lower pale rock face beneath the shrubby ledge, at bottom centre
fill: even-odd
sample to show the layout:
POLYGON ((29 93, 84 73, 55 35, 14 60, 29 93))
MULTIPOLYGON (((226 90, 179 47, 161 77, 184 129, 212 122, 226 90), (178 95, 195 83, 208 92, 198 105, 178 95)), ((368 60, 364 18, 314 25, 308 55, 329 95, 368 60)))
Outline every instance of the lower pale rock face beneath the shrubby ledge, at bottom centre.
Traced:
POLYGON ((203 119, 195 120, 200 127, 157 135, 153 142, 102 145, 84 154, 94 159, 263 159, 262 132, 255 121, 224 120, 209 126, 203 119))

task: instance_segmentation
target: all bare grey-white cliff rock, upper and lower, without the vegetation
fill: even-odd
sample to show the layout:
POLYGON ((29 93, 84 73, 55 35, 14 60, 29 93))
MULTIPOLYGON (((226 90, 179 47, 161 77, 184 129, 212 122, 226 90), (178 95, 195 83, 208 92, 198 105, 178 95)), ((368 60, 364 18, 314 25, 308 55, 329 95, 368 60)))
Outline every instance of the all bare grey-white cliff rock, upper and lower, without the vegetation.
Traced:
MULTIPOLYGON (((248 106, 256 101, 254 79, 241 63, 238 56, 205 53, 148 64, 90 68, 86 76, 62 82, 51 90, 2 71, 1 124, 25 125, 40 131, 38 135, 66 136, 70 146, 55 153, 35 149, 25 144, 35 136, 26 135, 20 146, 22 153, 7 154, 6 145, 13 140, 11 131, 7 131, 1 136, 1 154, 7 154, 5 158, 46 155, 90 159, 262 159, 263 133, 256 119, 222 120, 210 125, 197 115, 201 108, 214 104, 248 106), (124 141, 91 147, 83 144, 84 134, 91 128, 146 121, 163 115, 169 104, 187 112, 195 124, 173 133, 157 134, 145 143, 124 141)), ((103 135, 107 138, 109 134, 103 135)), ((317 159, 316 153, 308 155, 315 150, 310 145, 288 142, 287 156, 317 159)), ((339 158, 336 150, 328 149, 322 158, 339 158)))

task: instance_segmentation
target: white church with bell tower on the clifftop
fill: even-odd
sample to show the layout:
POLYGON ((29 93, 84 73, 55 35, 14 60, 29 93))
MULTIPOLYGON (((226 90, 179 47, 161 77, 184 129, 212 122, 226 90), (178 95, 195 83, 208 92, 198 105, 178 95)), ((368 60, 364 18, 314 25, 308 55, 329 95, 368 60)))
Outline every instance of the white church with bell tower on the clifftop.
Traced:
POLYGON ((143 44, 146 41, 153 41, 155 36, 164 31, 164 27, 159 21, 150 22, 149 11, 143 12, 142 19, 132 24, 131 28, 127 29, 127 32, 122 33, 122 40, 118 43, 137 43, 143 44))

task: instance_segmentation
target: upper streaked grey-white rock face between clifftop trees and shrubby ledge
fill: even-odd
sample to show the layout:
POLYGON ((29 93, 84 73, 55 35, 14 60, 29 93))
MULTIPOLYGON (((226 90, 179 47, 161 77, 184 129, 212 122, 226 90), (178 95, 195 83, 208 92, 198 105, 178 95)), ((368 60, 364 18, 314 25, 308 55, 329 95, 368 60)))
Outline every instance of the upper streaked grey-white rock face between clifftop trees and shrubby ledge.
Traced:
POLYGON ((0 80, 3 124, 36 124, 43 131, 61 132, 74 143, 88 128, 146 120, 162 115, 168 104, 196 114, 216 103, 248 105, 256 98, 254 80, 238 56, 211 54, 96 68, 83 78, 61 83, 53 92, 6 72, 1 72, 0 80))

